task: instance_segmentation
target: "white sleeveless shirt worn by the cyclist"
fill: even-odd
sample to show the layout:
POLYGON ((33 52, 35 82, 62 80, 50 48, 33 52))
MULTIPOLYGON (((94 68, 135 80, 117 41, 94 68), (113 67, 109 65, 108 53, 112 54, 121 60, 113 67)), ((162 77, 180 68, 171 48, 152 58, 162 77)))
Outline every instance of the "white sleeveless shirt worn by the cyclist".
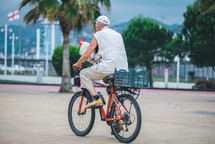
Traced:
POLYGON ((125 46, 120 33, 104 27, 94 34, 98 43, 98 55, 101 59, 91 68, 100 73, 114 73, 117 70, 128 70, 125 46))

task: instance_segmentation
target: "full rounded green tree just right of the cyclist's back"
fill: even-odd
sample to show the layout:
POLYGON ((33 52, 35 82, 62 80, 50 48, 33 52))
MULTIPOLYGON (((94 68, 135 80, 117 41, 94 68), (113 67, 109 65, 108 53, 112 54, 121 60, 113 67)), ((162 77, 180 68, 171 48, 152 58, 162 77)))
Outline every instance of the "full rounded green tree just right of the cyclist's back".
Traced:
POLYGON ((144 65, 150 73, 150 86, 152 83, 152 66, 156 57, 160 61, 168 61, 169 52, 166 44, 172 39, 172 32, 160 28, 158 23, 149 18, 134 18, 123 31, 123 38, 128 55, 129 66, 144 65))

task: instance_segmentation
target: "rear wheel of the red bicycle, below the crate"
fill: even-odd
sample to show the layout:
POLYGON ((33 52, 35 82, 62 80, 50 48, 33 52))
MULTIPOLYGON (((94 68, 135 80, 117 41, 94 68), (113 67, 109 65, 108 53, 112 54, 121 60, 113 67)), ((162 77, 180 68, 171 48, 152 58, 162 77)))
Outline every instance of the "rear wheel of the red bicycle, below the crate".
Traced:
MULTIPOLYGON (((118 97, 119 110, 123 116, 120 121, 112 122, 111 130, 120 142, 129 143, 136 139, 141 128, 141 111, 137 101, 128 94, 118 97)), ((111 117, 119 117, 116 111, 116 104, 111 107, 111 117)))

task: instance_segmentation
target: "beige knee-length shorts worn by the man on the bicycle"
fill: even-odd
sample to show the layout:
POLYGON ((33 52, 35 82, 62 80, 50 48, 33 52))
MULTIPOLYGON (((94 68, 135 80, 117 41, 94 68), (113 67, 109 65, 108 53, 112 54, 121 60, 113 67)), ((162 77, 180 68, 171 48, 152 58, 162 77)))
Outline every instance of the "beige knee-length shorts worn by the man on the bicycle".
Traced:
POLYGON ((113 75, 113 73, 99 73, 91 68, 83 69, 80 72, 81 87, 92 89, 94 88, 93 80, 101 80, 109 75, 113 75))

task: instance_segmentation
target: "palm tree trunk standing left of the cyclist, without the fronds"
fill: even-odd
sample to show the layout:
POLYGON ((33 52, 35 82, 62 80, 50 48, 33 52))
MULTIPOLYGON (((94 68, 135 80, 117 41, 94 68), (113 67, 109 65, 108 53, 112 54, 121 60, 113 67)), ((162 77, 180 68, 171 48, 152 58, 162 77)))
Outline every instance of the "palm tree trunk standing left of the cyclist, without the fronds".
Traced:
POLYGON ((63 31, 63 69, 59 92, 72 92, 69 60, 69 32, 65 31, 63 31))

